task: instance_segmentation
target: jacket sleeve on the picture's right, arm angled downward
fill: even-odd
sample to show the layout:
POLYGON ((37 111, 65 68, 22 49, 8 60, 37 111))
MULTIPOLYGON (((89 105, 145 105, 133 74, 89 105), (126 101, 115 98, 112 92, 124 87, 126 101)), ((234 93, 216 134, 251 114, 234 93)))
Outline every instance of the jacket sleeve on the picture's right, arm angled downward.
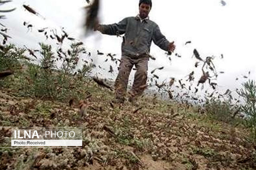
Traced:
POLYGON ((168 51, 168 46, 170 42, 166 40, 166 37, 161 33, 159 26, 156 26, 154 28, 152 40, 158 47, 165 51, 168 51))

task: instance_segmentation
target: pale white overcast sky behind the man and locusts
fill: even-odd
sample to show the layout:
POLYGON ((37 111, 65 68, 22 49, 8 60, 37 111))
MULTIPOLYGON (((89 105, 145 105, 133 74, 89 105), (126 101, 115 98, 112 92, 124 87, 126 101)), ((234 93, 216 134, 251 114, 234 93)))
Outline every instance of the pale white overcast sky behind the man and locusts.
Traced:
MULTIPOLYGON (((149 14, 151 20, 160 26, 161 32, 169 41, 175 41, 176 51, 182 57, 171 56, 172 61, 165 55, 165 51, 152 43, 151 55, 157 58, 149 62, 149 74, 154 68, 164 66, 162 71, 156 71, 160 81, 175 77, 187 79, 187 75, 195 71, 195 83, 201 77, 202 63, 195 68, 195 57, 192 58, 196 48, 205 59, 207 56, 215 56, 213 60, 219 74, 218 85, 222 89, 237 88, 246 79, 243 76, 256 78, 256 1, 255 0, 225 0, 223 6, 220 0, 152 0, 152 9, 149 14), (191 44, 185 45, 186 41, 191 44), (224 59, 221 59, 223 54, 224 59), (236 77, 239 78, 236 81, 236 77)), ((100 23, 111 24, 122 20, 124 17, 138 14, 139 0, 102 0, 100 11, 100 23)), ((121 57, 122 39, 116 36, 108 36, 96 32, 90 37, 84 37, 82 28, 85 18, 83 6, 87 6, 86 0, 14 0, 9 5, 1 8, 17 8, 7 14, 4 23, 9 34, 13 37, 11 42, 19 46, 27 45, 30 48, 39 48, 38 42, 55 45, 55 41, 46 40, 37 29, 49 27, 61 27, 78 40, 84 42, 85 47, 96 54, 96 50, 103 53, 117 54, 121 57), (35 16, 26 11, 22 5, 34 8, 42 17, 35 16), (23 22, 33 25, 32 31, 23 26, 23 22)), ((96 57, 94 62, 102 65, 106 56, 96 57)), ((108 73, 109 65, 104 64, 106 70, 98 69, 98 75, 115 79, 115 74, 108 73)), ((134 72, 133 72, 134 73, 134 72)), ((132 79, 131 74, 130 79, 132 79)))

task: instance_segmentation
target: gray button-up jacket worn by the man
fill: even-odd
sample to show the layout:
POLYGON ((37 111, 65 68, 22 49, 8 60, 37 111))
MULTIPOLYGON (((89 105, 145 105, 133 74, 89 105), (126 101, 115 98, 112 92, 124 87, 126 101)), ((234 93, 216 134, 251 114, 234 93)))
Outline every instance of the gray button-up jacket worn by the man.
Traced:
POLYGON ((140 56, 149 54, 151 42, 168 51, 169 41, 161 33, 159 26, 146 19, 142 22, 137 17, 126 17, 119 23, 100 25, 102 34, 122 35, 122 54, 140 56))

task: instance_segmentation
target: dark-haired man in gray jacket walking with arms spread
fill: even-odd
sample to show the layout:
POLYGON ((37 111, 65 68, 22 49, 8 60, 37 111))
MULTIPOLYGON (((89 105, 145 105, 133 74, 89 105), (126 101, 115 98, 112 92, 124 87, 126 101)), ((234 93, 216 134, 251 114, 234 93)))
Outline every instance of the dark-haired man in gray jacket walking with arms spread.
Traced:
POLYGON ((111 25, 97 25, 95 30, 102 34, 122 35, 122 57, 119 65, 119 73, 115 82, 116 102, 125 102, 125 94, 131 69, 135 65, 137 71, 134 75, 129 101, 134 103, 138 96, 143 94, 147 82, 148 59, 151 42, 165 51, 175 50, 174 42, 169 42, 160 32, 156 23, 149 20, 151 0, 140 0, 139 11, 136 17, 126 17, 119 23, 111 25))

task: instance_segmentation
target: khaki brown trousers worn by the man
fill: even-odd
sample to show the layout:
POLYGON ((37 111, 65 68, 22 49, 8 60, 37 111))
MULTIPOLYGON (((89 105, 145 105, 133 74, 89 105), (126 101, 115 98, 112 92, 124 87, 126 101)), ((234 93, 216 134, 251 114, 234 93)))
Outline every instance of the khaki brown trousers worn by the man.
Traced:
POLYGON ((128 79, 134 65, 136 67, 136 72, 130 97, 136 98, 143 94, 147 83, 148 59, 147 56, 137 57, 122 55, 121 63, 119 65, 119 73, 115 82, 116 98, 124 99, 127 91, 128 79))

